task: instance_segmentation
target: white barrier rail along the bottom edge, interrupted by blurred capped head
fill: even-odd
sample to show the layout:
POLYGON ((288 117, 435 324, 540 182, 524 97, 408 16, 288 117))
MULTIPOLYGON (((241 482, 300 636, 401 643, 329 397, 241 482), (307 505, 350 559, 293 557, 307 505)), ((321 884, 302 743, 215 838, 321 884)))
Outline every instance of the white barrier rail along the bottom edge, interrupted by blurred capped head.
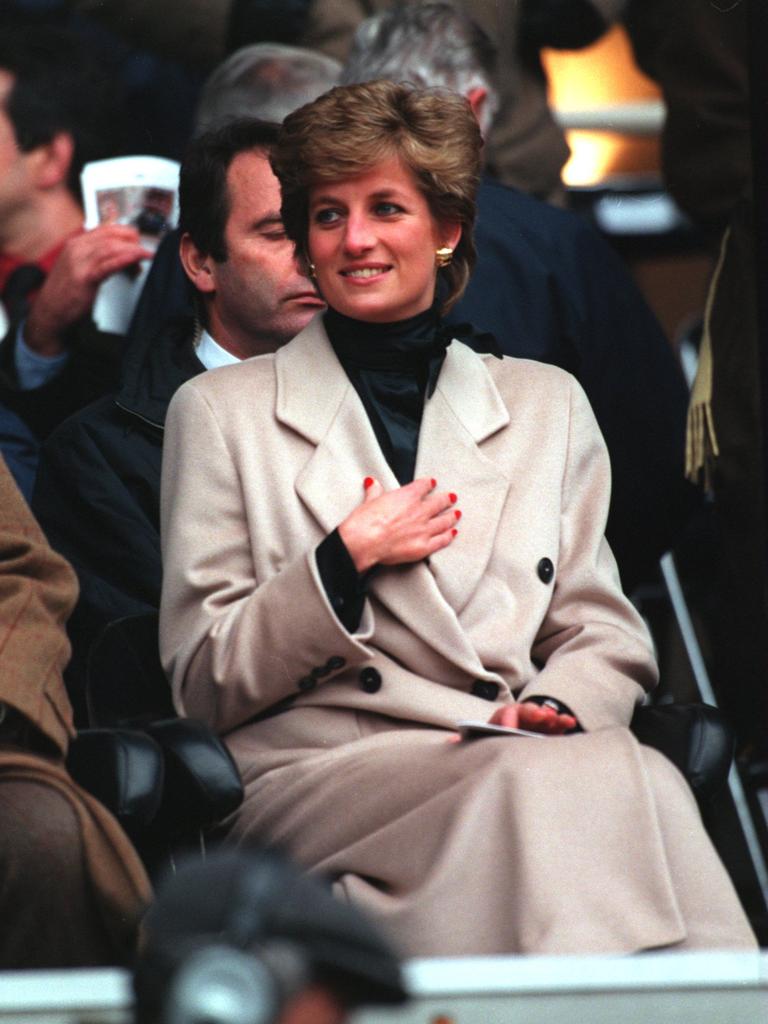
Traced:
MULTIPOLYGON (((706 896, 706 894, 702 894, 706 896)), ((412 961, 413 1000, 351 1024, 762 1024, 768 954, 412 961)), ((124 971, 0 973, 2 1024, 128 1024, 124 971)))

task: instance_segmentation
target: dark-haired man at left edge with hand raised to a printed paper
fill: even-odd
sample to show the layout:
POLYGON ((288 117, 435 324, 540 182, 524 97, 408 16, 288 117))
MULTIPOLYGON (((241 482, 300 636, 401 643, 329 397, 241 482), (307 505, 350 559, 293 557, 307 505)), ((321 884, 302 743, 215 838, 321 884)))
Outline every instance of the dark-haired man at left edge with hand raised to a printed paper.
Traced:
POLYGON ((113 387, 122 341, 90 310, 101 282, 151 254, 133 227, 83 230, 83 163, 112 155, 113 90, 75 37, 0 40, 0 402, 38 437, 113 387))

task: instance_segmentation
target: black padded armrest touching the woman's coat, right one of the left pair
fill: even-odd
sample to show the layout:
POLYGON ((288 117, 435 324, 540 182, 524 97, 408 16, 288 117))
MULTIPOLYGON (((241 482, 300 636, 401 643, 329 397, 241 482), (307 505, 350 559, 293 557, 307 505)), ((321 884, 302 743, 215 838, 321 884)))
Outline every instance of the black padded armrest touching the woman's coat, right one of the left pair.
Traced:
POLYGON ((165 759, 165 792, 158 815, 171 833, 210 828, 243 802, 231 754, 204 722, 168 718, 144 726, 165 759))

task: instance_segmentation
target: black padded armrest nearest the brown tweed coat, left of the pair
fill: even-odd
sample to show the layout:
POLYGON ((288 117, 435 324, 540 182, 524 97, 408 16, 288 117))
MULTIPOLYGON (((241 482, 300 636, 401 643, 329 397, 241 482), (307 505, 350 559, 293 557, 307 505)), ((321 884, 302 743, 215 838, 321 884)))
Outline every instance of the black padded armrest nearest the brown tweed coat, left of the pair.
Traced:
POLYGON ((70 744, 75 781, 112 811, 131 838, 151 824, 163 798, 163 753, 134 729, 83 729, 70 744))

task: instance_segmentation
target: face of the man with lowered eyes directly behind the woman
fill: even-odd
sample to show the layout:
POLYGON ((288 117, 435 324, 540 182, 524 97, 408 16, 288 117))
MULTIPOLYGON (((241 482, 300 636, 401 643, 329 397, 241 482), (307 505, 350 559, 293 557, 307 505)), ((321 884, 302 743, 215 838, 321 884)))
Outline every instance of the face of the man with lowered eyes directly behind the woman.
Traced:
POLYGON ((280 184, 266 157, 240 153, 227 172, 227 258, 211 261, 213 338, 241 357, 285 345, 324 303, 299 273, 280 217, 280 184))

